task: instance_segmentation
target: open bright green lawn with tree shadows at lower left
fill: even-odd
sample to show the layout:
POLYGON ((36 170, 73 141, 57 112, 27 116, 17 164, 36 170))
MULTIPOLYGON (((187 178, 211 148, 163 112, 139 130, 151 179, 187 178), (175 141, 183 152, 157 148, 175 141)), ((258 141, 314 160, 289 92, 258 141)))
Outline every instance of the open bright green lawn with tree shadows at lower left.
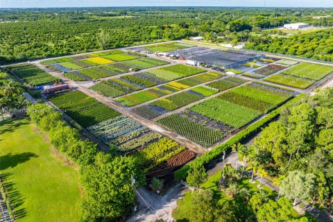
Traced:
POLYGON ((28 119, 0 121, 0 173, 17 221, 80 221, 78 174, 50 151, 28 119))

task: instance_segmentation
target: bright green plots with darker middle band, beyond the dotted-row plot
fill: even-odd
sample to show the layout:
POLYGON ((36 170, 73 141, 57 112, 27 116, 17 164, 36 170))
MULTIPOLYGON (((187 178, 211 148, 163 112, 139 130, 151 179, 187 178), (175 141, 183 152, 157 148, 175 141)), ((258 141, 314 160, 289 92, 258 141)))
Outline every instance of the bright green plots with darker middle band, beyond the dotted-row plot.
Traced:
POLYGON ((203 101, 190 110, 234 128, 241 128, 264 112, 287 101, 291 96, 292 92, 253 83, 203 101))

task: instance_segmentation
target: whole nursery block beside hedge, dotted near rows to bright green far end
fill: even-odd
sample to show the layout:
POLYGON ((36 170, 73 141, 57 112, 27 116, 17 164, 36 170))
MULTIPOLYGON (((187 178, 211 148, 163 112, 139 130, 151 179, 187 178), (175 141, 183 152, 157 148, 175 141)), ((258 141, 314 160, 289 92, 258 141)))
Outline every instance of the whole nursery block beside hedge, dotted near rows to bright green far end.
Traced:
POLYGON ((210 147, 221 141, 225 133, 246 126, 291 96, 293 92, 286 89, 251 83, 193 105, 187 108, 187 114, 171 114, 156 122, 192 142, 210 147))

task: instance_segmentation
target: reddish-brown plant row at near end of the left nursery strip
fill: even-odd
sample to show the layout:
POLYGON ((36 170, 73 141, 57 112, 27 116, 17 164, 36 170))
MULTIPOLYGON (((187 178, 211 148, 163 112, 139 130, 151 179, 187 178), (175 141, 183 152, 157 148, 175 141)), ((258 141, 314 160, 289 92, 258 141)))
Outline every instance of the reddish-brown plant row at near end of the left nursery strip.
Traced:
POLYGON ((194 157, 196 157, 196 153, 193 151, 185 150, 174 157, 171 157, 169 160, 162 162, 162 164, 158 165, 151 171, 149 171, 146 174, 147 178, 157 178, 161 176, 165 176, 168 173, 174 171, 178 167, 181 167, 182 165, 186 164, 190 160, 192 160, 194 157))

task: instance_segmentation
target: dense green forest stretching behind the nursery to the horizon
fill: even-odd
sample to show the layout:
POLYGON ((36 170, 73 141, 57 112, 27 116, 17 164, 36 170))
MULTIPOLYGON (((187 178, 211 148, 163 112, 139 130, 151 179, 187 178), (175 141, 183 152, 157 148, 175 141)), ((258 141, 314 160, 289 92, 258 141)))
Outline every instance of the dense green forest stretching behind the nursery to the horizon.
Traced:
MULTIPOLYGON (((249 31, 288 22, 329 26, 333 24, 331 17, 312 16, 330 13, 328 9, 300 8, 3 9, 0 10, 0 64, 194 35, 203 35, 212 42, 222 36, 234 43, 250 39, 251 49, 266 49, 256 44, 249 31)), ((275 40, 266 43, 270 41, 275 40)), ((307 56, 306 50, 300 52, 302 56, 307 56)), ((316 55, 316 51, 312 54, 316 55)), ((315 56, 312 54, 310 57, 315 56)), ((322 56, 316 58, 328 60, 322 56)))

